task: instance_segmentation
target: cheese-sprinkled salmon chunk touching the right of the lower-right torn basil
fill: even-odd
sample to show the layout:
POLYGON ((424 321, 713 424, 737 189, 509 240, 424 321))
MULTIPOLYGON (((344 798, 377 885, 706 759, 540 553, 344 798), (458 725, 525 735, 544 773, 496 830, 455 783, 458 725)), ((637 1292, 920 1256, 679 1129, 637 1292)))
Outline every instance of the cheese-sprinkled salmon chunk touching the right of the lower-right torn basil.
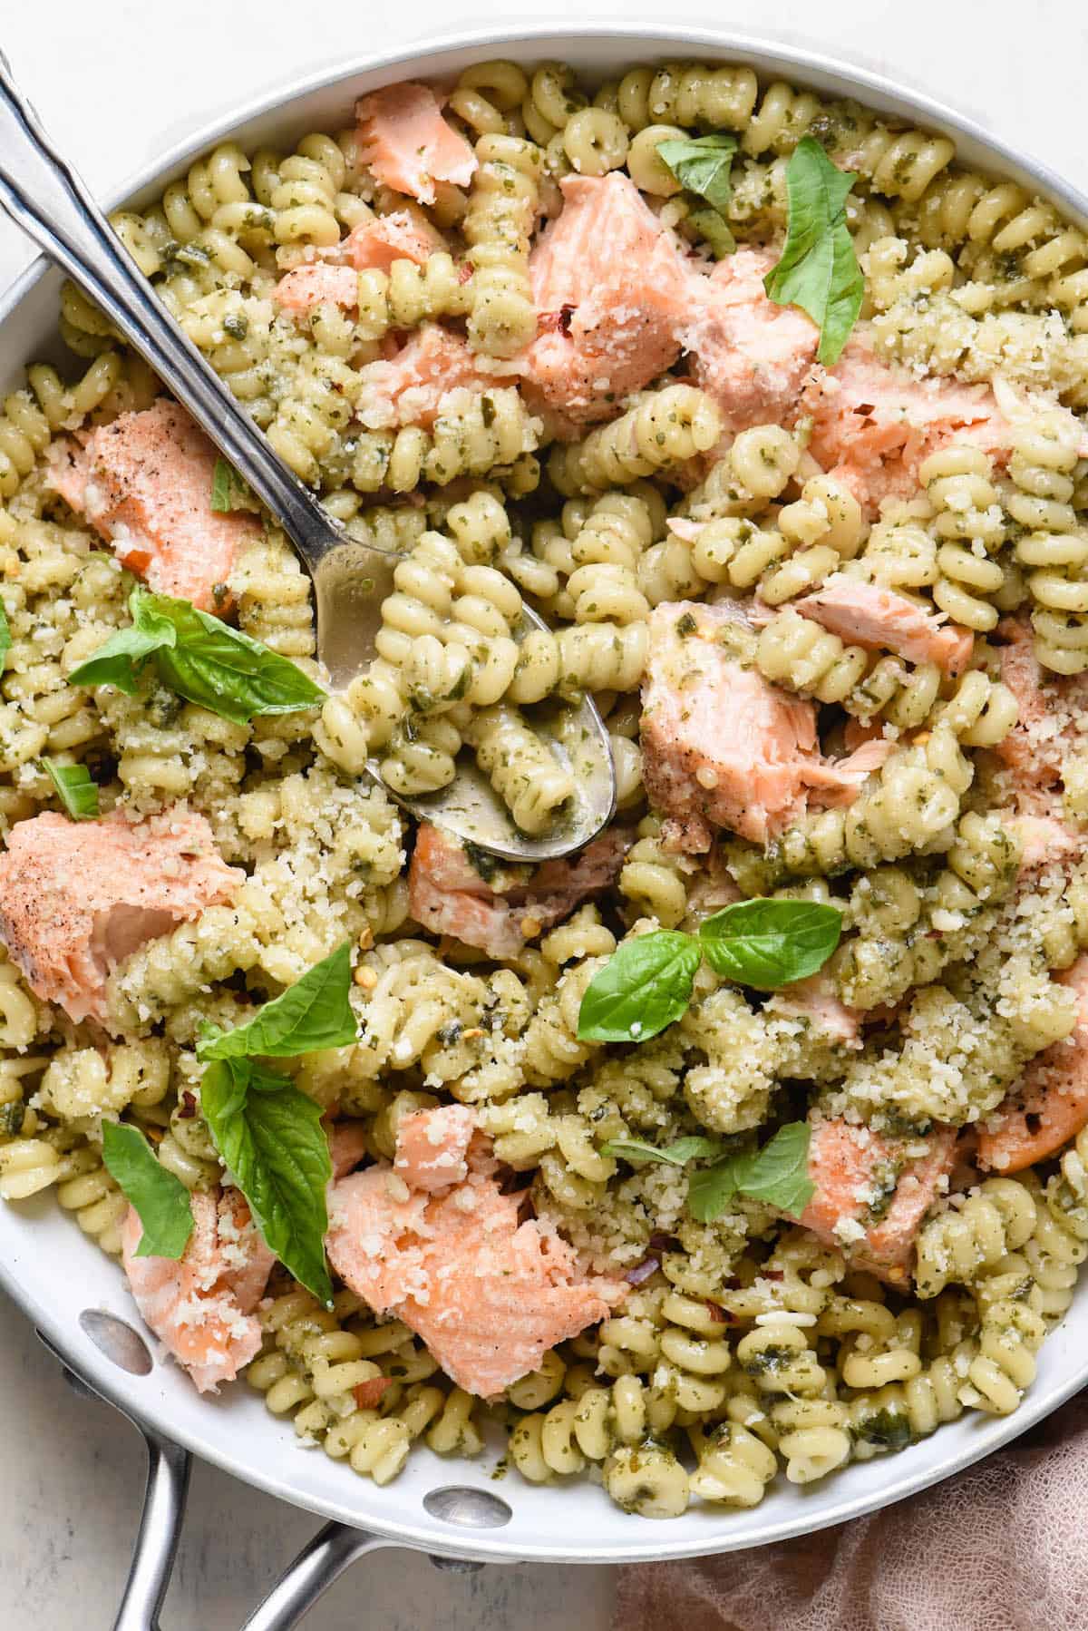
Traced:
POLYGON ((801 1225, 882 1280, 907 1279, 925 1213, 956 1160, 956 1129, 891 1138, 871 1127, 809 1117, 809 1179, 816 1194, 801 1225))

